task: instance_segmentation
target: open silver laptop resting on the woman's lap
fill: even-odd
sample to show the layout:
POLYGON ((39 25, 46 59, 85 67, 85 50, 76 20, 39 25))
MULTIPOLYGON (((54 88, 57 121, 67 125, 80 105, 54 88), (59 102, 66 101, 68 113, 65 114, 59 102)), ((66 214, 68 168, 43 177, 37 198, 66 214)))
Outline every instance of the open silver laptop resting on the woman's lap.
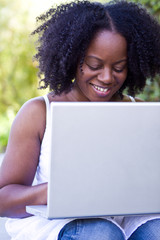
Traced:
POLYGON ((160 213, 160 103, 51 104, 49 219, 160 213))

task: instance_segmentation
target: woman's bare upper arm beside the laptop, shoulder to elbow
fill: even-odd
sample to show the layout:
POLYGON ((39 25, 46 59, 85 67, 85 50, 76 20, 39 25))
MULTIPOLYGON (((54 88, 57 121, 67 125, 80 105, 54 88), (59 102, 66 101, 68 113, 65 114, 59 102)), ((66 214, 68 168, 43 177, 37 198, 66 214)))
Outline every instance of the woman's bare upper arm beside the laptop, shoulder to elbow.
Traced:
POLYGON ((44 129, 43 100, 34 99, 24 104, 10 131, 6 154, 0 169, 0 188, 8 184, 32 184, 44 129))

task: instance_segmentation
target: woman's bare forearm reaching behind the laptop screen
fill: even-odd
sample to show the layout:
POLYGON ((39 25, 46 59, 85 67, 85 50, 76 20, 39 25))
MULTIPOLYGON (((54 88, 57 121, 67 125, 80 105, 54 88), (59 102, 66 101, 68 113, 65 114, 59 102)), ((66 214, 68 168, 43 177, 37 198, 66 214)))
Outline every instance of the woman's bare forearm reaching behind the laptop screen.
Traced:
POLYGON ((0 190, 0 216, 27 217, 27 205, 47 204, 47 184, 23 186, 11 184, 0 190))

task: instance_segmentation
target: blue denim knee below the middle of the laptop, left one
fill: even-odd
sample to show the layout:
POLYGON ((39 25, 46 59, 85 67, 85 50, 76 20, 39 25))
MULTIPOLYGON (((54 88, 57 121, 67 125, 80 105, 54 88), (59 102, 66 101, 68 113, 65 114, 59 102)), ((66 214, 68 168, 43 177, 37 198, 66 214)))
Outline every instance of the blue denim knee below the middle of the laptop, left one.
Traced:
POLYGON ((114 223, 105 219, 77 219, 60 231, 58 240, 125 240, 114 223))

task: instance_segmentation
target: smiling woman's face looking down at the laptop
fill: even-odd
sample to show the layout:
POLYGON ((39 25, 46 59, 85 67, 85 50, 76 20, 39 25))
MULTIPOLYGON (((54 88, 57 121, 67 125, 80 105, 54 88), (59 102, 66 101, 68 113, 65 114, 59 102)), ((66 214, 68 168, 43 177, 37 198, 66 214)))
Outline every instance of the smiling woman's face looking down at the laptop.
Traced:
POLYGON ((104 30, 92 40, 82 71, 77 69, 74 90, 82 101, 116 101, 127 77, 127 42, 104 30))

